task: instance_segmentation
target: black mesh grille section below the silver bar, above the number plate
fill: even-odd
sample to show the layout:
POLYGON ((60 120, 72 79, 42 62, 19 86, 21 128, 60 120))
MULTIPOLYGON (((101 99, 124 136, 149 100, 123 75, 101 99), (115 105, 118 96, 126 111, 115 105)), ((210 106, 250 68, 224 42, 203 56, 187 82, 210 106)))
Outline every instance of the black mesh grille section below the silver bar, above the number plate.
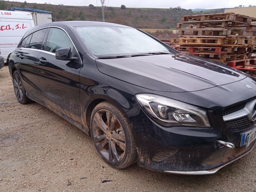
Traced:
POLYGON ((234 129, 241 129, 241 128, 250 126, 253 123, 254 122, 250 121, 249 118, 245 116, 245 117, 241 117, 231 121, 226 121, 225 125, 229 130, 234 130, 234 129))

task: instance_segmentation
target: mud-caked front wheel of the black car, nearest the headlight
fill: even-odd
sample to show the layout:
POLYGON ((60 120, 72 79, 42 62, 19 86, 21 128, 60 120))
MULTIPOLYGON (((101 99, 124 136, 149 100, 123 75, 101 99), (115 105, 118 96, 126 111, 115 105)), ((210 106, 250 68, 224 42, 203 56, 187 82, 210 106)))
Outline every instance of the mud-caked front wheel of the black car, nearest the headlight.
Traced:
POLYGON ((91 135, 100 156, 121 169, 136 162, 137 151, 129 120, 112 103, 98 104, 91 115, 91 135))

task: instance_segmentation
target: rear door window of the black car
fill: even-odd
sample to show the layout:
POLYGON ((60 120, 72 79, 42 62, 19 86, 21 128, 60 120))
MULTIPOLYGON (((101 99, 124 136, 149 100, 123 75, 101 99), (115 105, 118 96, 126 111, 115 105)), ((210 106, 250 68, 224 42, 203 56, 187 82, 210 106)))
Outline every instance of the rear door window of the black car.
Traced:
POLYGON ((47 29, 42 29, 33 33, 28 48, 44 50, 43 42, 46 31, 47 29))

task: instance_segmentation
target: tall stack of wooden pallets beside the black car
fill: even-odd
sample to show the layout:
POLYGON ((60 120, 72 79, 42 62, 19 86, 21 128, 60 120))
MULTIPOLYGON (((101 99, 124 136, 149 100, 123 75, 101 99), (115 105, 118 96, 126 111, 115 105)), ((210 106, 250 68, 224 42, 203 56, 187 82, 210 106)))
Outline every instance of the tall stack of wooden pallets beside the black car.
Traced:
POLYGON ((180 38, 172 39, 171 44, 181 52, 223 64, 236 60, 252 64, 254 61, 246 59, 253 55, 256 44, 254 21, 256 18, 235 13, 182 16, 177 24, 180 38))

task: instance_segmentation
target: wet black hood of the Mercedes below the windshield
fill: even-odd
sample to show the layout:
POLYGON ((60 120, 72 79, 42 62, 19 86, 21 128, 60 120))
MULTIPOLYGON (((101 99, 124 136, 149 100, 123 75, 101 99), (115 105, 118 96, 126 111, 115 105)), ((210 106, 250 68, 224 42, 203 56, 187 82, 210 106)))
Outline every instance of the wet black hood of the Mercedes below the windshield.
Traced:
POLYGON ((192 92, 230 84, 246 74, 185 53, 96 59, 99 71, 116 79, 161 92, 192 92))

